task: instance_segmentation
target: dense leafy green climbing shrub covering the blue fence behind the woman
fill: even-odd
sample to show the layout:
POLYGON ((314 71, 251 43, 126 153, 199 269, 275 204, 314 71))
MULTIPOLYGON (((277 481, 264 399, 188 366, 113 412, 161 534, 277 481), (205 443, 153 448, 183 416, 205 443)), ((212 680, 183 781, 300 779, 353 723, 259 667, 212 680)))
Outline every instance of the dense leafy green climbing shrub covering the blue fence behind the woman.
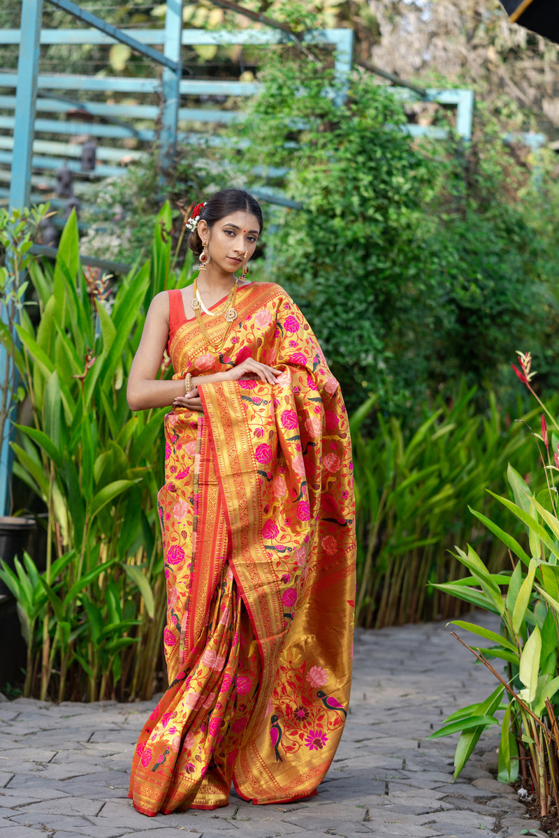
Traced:
POLYGON ((490 390, 514 405, 502 358, 536 323, 550 354, 556 342, 556 246, 525 209, 536 165, 547 184, 551 162, 519 167, 481 108, 467 147, 452 129, 414 140, 390 89, 357 71, 345 89, 319 49, 285 46, 258 78, 232 163, 249 187, 300 204, 267 210, 267 278, 303 308, 349 409, 375 394, 417 427, 463 376, 482 409, 490 390))

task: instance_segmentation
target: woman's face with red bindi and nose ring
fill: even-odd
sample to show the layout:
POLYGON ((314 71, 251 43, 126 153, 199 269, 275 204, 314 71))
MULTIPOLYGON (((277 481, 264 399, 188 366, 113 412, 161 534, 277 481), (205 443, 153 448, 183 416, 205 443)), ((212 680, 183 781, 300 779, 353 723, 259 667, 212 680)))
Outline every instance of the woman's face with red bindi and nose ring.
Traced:
POLYGON ((211 261, 225 272, 232 273, 254 253, 260 225, 256 215, 238 210, 225 215, 211 228, 201 220, 198 231, 200 239, 208 246, 211 261))

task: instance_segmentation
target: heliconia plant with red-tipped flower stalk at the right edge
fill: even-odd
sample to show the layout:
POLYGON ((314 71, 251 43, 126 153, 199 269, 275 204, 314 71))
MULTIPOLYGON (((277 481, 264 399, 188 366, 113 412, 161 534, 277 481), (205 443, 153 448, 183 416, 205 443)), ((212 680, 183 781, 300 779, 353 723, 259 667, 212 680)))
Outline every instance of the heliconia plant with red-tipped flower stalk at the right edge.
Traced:
POLYGON ((516 375, 535 396, 541 410, 541 432, 532 432, 541 457, 544 488, 531 489, 515 468, 507 476, 513 499, 489 492, 509 514, 505 527, 471 510, 509 552, 511 569, 492 573, 468 546, 456 548, 455 556, 468 576, 437 584, 445 593, 499 616, 495 632, 463 620, 453 625, 483 638, 479 646, 454 636, 499 681, 485 701, 448 716, 432 737, 459 732, 454 756, 455 776, 462 771, 479 737, 490 725, 499 724, 495 713, 505 710, 500 722, 499 779, 514 782, 519 777, 536 794, 541 816, 551 804, 559 812, 559 517, 556 474, 559 472, 559 425, 534 391, 530 353, 518 353, 516 375), (547 417, 547 419, 546 419, 547 417), (552 429, 548 431, 547 420, 552 429), (515 522, 524 536, 511 532, 515 522), (505 662, 503 670, 501 662, 505 662))

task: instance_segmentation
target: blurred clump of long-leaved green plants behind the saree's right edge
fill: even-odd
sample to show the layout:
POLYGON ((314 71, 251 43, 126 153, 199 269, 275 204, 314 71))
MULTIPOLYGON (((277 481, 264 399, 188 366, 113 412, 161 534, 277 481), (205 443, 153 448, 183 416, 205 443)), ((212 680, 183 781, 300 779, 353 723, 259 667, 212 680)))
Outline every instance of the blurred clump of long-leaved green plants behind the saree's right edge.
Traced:
POLYGON ((506 561, 506 547, 464 520, 463 508, 486 510, 485 486, 502 482, 510 458, 523 473, 534 473, 537 459, 520 427, 505 427, 494 396, 481 416, 475 395, 462 382, 451 395, 441 394, 411 431, 380 411, 378 430, 364 430, 375 399, 351 417, 361 625, 458 616, 460 604, 433 585, 458 576, 458 562, 444 552, 457 542, 471 541, 494 571, 506 561))

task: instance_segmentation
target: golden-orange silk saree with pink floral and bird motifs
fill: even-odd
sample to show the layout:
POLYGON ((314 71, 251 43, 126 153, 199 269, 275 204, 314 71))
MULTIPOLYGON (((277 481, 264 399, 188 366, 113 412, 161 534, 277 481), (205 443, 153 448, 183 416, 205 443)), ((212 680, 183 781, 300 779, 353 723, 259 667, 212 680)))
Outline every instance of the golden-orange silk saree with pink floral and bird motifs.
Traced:
MULTIPOLYGON (((219 351, 179 299, 174 378, 249 356, 281 375, 275 385, 202 382, 203 413, 165 417, 169 686, 132 761, 129 796, 145 815, 225 806, 231 783, 255 804, 315 794, 351 680, 355 500, 339 384, 274 283, 239 288, 219 351)), ((227 323, 203 316, 219 345, 227 323)))

